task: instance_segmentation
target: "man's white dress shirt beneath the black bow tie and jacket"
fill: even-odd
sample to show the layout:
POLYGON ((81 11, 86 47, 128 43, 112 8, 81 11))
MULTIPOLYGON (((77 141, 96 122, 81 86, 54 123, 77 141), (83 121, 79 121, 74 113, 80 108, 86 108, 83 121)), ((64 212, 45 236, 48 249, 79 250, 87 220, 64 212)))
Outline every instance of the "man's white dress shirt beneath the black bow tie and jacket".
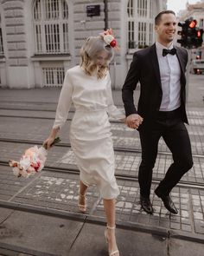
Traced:
POLYGON ((163 49, 172 49, 173 44, 166 48, 156 42, 156 55, 159 62, 159 70, 163 89, 163 99, 160 111, 172 111, 181 105, 181 68, 176 55, 163 56, 163 49))

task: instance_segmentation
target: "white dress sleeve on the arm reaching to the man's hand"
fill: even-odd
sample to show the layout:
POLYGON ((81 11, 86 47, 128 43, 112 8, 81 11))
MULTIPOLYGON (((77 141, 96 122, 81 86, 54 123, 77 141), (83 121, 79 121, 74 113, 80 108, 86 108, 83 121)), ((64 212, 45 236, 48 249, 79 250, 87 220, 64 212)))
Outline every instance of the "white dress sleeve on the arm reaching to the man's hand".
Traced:
POLYGON ((112 82, 110 74, 108 74, 108 82, 107 82, 107 101, 108 101, 108 115, 111 118, 124 121, 125 115, 124 115, 124 109, 119 109, 114 105, 113 99, 112 99, 112 82))

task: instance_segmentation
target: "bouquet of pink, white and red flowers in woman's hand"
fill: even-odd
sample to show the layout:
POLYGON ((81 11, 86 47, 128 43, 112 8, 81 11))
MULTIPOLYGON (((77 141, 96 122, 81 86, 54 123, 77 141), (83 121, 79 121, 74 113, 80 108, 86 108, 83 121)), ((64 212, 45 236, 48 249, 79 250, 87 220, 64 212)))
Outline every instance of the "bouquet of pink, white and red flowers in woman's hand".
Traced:
MULTIPOLYGON (((60 142, 61 139, 59 137, 54 139, 54 144, 60 142)), ((10 160, 9 164, 10 167, 13 167, 13 173, 17 177, 26 177, 28 178, 29 175, 35 174, 41 171, 41 169, 45 165, 45 161, 47 159, 48 150, 41 146, 38 148, 37 146, 31 147, 26 149, 20 161, 10 160)))

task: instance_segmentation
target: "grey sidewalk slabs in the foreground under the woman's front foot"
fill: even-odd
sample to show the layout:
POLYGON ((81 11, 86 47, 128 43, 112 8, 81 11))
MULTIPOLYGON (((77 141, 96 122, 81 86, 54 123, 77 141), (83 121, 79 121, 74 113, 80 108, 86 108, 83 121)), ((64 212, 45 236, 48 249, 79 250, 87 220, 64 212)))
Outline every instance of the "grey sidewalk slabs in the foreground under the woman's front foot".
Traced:
MULTIPOLYGON (((72 220, 68 216, 59 218, 37 213, 12 212, 14 211, 1 208, 1 220, 12 214, 1 225, 4 230, 7 228, 7 233, 10 229, 12 233, 1 241, 0 246, 3 248, 4 243, 6 248, 21 253, 0 249, 3 255, 108 255, 104 238, 105 226, 89 223, 88 220, 86 223, 72 220), (14 234, 15 239, 10 238, 14 234)), ((201 256, 203 253, 203 244, 180 240, 176 236, 174 238, 174 233, 144 233, 139 228, 136 229, 138 231, 129 230, 128 227, 117 229, 120 255, 201 256)))

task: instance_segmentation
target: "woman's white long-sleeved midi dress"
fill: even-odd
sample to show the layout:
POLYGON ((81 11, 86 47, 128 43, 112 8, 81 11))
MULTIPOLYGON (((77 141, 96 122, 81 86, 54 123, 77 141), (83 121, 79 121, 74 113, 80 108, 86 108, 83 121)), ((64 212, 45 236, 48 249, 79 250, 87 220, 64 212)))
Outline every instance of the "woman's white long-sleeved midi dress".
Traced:
POLYGON ((67 120, 71 104, 75 114, 70 128, 70 142, 80 169, 80 181, 96 185, 103 199, 119 194, 114 175, 114 152, 108 115, 124 119, 124 112, 112 101, 109 73, 98 79, 86 75, 80 66, 68 69, 56 110, 54 128, 67 120))

